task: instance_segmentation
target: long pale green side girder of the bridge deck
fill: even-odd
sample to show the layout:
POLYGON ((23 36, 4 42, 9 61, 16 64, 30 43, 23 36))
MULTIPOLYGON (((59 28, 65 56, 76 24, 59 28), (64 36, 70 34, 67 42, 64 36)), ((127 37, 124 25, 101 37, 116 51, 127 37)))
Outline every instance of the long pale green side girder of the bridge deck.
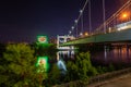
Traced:
POLYGON ((106 34, 97 34, 88 37, 78 38, 60 46, 75 46, 81 44, 104 44, 104 42, 126 42, 131 41, 131 28, 116 30, 106 34))

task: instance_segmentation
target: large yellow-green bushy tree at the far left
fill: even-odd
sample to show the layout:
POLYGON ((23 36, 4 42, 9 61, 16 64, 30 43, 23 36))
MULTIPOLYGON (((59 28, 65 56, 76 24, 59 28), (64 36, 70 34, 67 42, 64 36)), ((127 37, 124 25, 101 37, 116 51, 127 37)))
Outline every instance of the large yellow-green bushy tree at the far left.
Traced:
POLYGON ((3 59, 7 63, 1 65, 2 77, 4 78, 2 84, 8 87, 39 86, 38 73, 36 73, 35 67, 36 58, 34 50, 28 45, 8 45, 3 59))

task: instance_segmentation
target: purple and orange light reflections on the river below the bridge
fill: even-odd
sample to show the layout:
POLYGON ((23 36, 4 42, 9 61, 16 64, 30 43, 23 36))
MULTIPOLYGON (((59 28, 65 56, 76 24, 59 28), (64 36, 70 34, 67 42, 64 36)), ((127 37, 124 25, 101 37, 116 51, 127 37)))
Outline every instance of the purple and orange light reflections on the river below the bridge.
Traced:
POLYGON ((93 60, 99 63, 109 64, 109 63, 131 63, 131 48, 129 47, 105 47, 104 51, 91 54, 93 60))

